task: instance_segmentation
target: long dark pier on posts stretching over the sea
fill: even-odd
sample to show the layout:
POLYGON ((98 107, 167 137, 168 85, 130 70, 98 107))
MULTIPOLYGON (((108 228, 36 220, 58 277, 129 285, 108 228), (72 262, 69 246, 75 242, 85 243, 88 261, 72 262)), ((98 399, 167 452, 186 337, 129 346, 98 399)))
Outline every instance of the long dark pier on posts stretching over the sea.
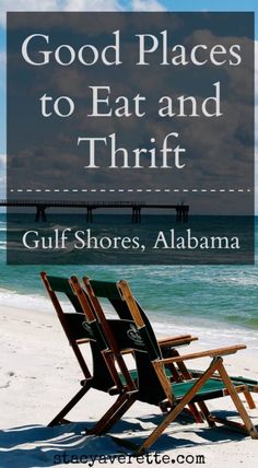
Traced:
POLYGON ((86 220, 93 222, 93 210, 97 209, 130 209, 131 222, 140 223, 143 209, 175 210, 177 222, 187 222, 188 204, 156 204, 143 201, 62 201, 62 200, 0 200, 0 207, 25 208, 34 207, 35 221, 47 221, 46 210, 49 208, 80 208, 86 210, 86 220))

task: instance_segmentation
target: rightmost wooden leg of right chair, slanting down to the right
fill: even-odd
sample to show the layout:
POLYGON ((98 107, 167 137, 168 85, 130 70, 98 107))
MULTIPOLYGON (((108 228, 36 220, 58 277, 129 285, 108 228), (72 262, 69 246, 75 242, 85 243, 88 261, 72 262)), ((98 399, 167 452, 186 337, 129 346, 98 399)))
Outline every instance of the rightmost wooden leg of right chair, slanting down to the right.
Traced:
POLYGON ((218 371, 221 375, 222 381, 225 384, 225 387, 244 422, 244 425, 246 428, 246 432, 251 436, 251 438, 258 438, 258 431, 256 430, 256 428, 254 426, 244 405, 242 403, 239 396, 234 387, 234 385, 231 382, 231 378, 221 361, 218 371))

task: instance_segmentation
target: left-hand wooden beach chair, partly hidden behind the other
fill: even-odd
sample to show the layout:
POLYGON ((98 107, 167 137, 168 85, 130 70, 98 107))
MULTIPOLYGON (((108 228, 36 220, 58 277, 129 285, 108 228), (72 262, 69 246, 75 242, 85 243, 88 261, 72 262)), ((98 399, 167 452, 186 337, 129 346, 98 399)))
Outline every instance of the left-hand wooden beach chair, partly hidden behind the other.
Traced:
POLYGON ((133 394, 136 387, 126 365, 124 365, 122 358, 118 356, 118 367, 121 367, 122 379, 119 377, 114 358, 107 352, 108 346, 106 343, 105 336, 103 335, 99 324, 91 309, 86 295, 83 294, 83 299, 81 299, 81 301, 83 301, 82 309, 68 279, 47 276, 45 272, 42 272, 40 276, 84 376, 81 382, 82 387, 80 390, 61 409, 61 411, 58 412, 48 425, 52 426, 69 422, 64 417, 81 400, 90 388, 109 393, 110 395, 118 395, 115 403, 112 405, 103 417, 104 421, 108 420, 108 418, 128 400, 130 393, 133 394), (59 301, 59 295, 69 300, 74 312, 63 311, 59 301), (93 362, 92 373, 90 372, 80 350, 80 347, 85 343, 89 343, 91 347, 93 362))

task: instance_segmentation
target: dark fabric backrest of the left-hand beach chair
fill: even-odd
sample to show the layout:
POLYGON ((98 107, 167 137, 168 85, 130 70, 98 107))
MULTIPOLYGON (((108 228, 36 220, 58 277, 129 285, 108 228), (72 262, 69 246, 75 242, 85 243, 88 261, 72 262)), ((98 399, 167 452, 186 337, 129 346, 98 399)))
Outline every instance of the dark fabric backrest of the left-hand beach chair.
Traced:
POLYGON ((42 272, 40 276, 84 376, 87 379, 92 378, 92 386, 94 388, 104 391, 108 390, 115 385, 104 358, 104 352, 108 347, 90 302, 83 311, 69 279, 47 276, 46 272, 42 272), (69 300, 74 312, 64 311, 59 301, 59 295, 69 300), (92 374, 79 349, 79 346, 86 341, 90 342, 92 351, 92 374))

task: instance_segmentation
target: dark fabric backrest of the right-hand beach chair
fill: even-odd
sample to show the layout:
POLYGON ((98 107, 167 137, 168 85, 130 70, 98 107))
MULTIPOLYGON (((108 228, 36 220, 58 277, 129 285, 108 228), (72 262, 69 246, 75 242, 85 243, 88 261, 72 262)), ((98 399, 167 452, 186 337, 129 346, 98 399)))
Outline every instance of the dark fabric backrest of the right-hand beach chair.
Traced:
MULTIPOLYGON (((113 304, 114 302, 119 304, 119 311, 122 311, 124 318, 120 320, 104 318, 104 321, 108 324, 109 332, 116 340, 119 350, 131 348, 134 351, 138 371, 138 399, 157 405, 166 398, 164 387, 153 365, 153 362, 160 359, 162 354, 151 324, 148 319, 143 319, 141 308, 132 296, 127 282, 90 281, 89 278, 83 278, 83 282, 101 323, 103 323, 105 314, 98 297, 105 297, 113 304)), ((165 374, 164 378, 166 379, 165 374)))

